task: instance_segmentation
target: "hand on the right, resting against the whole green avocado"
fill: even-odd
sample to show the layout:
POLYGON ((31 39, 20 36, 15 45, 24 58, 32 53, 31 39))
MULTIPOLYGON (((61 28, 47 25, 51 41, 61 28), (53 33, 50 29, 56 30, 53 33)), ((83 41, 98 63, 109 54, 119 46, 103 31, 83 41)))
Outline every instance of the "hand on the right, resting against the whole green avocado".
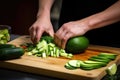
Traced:
POLYGON ((87 21, 84 20, 65 23, 55 33, 55 42, 64 49, 69 38, 84 35, 88 31, 88 27, 87 21))

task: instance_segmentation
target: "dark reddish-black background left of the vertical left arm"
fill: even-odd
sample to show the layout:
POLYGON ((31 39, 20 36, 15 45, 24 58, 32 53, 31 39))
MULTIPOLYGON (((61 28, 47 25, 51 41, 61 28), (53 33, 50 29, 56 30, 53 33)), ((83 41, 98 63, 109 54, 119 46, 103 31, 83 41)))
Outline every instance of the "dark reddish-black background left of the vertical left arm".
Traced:
POLYGON ((38 0, 0 0, 0 25, 11 26, 13 34, 28 34, 37 8, 38 0))

